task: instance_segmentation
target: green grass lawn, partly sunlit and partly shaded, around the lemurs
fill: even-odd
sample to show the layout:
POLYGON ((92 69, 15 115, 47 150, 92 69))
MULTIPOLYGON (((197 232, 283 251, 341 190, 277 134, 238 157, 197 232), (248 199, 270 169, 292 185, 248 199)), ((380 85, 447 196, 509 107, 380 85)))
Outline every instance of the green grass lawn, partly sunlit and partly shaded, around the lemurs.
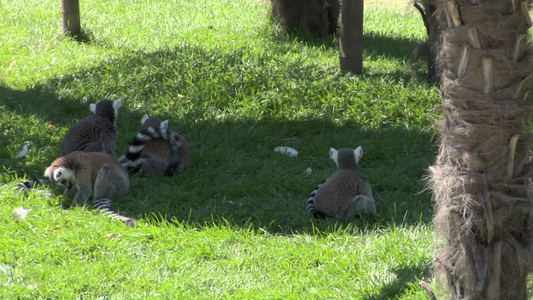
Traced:
POLYGON ((0 298, 427 298, 423 178, 439 99, 410 72, 425 38, 418 15, 367 10, 364 72, 353 75, 338 70, 337 37, 281 32, 257 1, 80 4, 85 42, 61 35, 59 2, 0 0, 0 298), (118 153, 145 113, 193 150, 184 175, 131 177, 114 206, 140 219, 134 229, 14 191, 104 97, 124 98, 118 153), (335 170, 329 148, 357 146, 379 214, 311 219, 307 195, 335 170), (25 221, 17 207, 32 209, 25 221))

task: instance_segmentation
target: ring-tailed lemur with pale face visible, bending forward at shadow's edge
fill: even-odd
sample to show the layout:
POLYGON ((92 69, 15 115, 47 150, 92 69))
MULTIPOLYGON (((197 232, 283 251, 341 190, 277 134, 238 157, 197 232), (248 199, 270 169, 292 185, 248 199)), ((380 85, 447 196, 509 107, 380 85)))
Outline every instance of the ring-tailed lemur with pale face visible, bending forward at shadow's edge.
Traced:
POLYGON ((121 216, 111 209, 111 201, 126 194, 130 186, 128 172, 114 156, 74 151, 52 162, 44 175, 65 187, 64 206, 71 195, 75 195, 72 206, 84 205, 92 197, 97 211, 119 219, 130 227, 136 225, 136 220, 121 216))

